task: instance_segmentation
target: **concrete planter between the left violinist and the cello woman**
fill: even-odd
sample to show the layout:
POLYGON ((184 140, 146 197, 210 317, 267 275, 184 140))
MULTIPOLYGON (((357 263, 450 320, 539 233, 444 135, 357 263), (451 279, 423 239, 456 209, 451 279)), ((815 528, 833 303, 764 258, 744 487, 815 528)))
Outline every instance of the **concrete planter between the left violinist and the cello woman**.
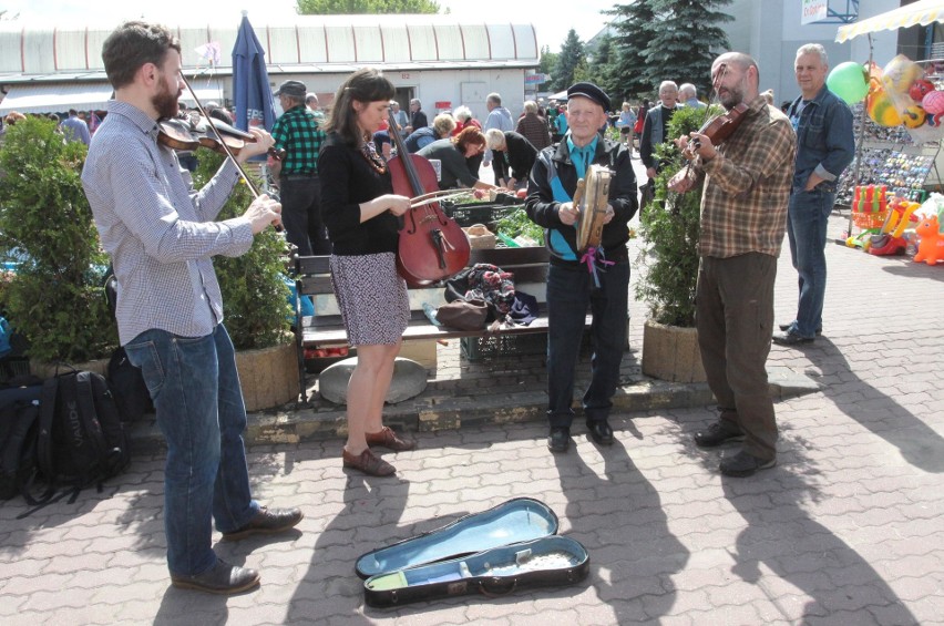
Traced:
POLYGON ((236 352, 246 411, 260 411, 298 398, 295 343, 236 352))

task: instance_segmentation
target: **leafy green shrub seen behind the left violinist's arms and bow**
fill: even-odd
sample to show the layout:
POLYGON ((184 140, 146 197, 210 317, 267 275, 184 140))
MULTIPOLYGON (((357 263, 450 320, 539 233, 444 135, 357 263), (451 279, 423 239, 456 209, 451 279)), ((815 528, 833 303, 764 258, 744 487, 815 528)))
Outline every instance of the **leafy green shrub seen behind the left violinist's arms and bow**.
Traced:
MULTIPOLYGON (((196 154, 199 165, 194 173, 194 187, 199 188, 219 170, 225 157, 205 148, 196 154)), ((255 182, 258 186, 258 181, 255 182)), ((252 202, 253 194, 240 179, 217 219, 243 215, 252 202)), ((213 259, 223 293, 226 329, 238 350, 269 348, 290 339, 288 329, 293 311, 285 283, 285 238, 275 229, 266 228, 256 235, 253 247, 245 255, 213 259)))

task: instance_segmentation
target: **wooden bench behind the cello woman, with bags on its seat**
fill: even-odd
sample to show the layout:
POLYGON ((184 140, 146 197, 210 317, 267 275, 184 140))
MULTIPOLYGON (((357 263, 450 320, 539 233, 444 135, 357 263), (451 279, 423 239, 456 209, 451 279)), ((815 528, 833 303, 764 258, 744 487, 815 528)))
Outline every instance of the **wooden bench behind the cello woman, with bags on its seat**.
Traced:
MULTIPOLYGON (((299 387, 302 400, 306 398, 305 350, 311 348, 338 348, 348 346, 347 332, 341 320, 335 293, 331 287, 330 269, 327 256, 296 257, 296 290, 300 296, 310 296, 315 305, 314 316, 302 316, 300 304, 296 307, 296 346, 298 350, 299 387)), ((529 326, 502 328, 494 336, 546 333, 547 307, 545 283, 547 279, 548 253, 543 246, 527 248, 473 249, 469 265, 490 263, 514 275, 515 289, 534 296, 538 301, 540 316, 529 326)), ((403 331, 403 341, 443 340, 463 337, 485 337, 486 330, 456 330, 435 326, 427 317, 423 305, 433 308, 445 302, 444 287, 435 284, 429 287, 411 288, 410 322, 403 331)), ((589 315, 586 326, 591 322, 589 315)), ((434 343, 433 343, 434 346, 434 343)), ((433 363, 434 365, 434 363, 433 363)))

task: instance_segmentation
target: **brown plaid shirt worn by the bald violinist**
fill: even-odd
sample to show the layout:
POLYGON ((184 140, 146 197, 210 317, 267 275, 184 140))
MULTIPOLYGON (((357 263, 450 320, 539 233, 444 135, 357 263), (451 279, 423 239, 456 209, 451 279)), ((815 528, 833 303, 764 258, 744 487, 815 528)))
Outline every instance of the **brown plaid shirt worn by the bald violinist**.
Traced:
POLYGON ((790 120, 763 96, 749 107, 714 158, 694 162, 697 175, 707 175, 698 244, 704 257, 780 255, 797 137, 790 120))

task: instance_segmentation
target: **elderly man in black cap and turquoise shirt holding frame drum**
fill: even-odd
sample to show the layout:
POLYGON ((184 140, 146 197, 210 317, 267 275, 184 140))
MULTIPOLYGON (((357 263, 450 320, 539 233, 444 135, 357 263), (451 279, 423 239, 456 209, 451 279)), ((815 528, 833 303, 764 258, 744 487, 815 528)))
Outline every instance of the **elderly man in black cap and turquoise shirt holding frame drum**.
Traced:
POLYGON ((581 82, 567 90, 570 130, 542 150, 531 171, 525 208, 545 229, 547 273, 547 447, 566 452, 574 419, 574 372, 586 312, 593 314, 592 377, 582 398, 591 438, 613 443, 612 398, 619 382, 628 321, 627 223, 638 208, 626 146, 604 138, 609 98, 581 82))

